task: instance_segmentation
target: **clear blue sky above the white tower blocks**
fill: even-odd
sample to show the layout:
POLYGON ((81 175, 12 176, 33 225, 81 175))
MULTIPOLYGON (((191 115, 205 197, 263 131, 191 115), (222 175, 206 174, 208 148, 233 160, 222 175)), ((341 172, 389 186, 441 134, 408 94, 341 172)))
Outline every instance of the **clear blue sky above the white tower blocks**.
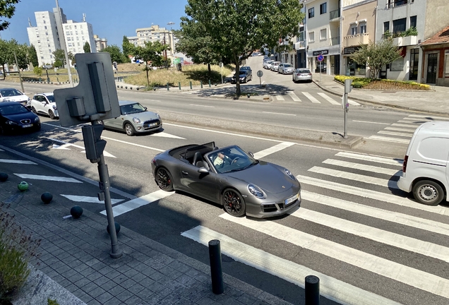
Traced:
MULTIPOLYGON (((136 28, 148 28, 151 24, 179 29, 179 18, 186 16, 187 0, 59 0, 68 20, 86 21, 92 24, 94 34, 106 38, 109 45, 121 47, 124 35, 136 36, 136 28)), ((11 25, 0 31, 1 39, 16 39, 20 44, 30 44, 28 40, 28 18, 36 25, 35 11, 53 11, 56 0, 21 0, 16 4, 13 18, 7 19, 11 25)))

